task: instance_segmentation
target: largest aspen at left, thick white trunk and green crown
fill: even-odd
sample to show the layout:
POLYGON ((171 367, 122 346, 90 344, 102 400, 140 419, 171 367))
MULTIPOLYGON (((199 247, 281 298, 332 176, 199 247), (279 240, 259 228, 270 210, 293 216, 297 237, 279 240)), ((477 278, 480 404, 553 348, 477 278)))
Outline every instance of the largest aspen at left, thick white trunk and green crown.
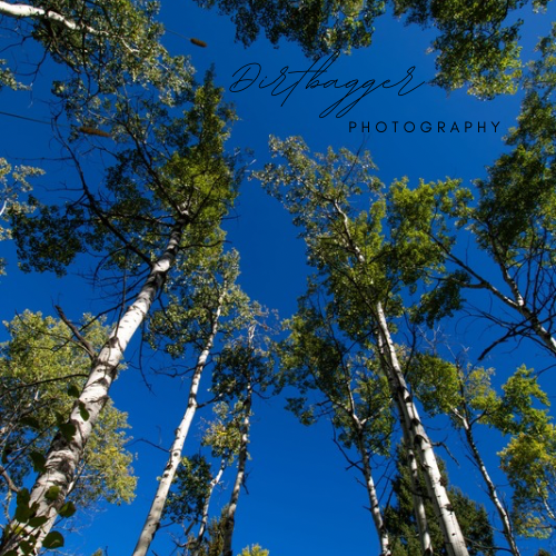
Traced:
MULTIPOLYGON (((220 91, 210 77, 190 92, 178 76, 168 78, 165 91, 159 91, 167 96, 162 103, 156 92, 142 100, 143 109, 151 108, 151 112, 136 112, 135 101, 123 97, 112 105, 117 109, 112 123, 122 148, 116 166, 107 170, 111 201, 89 186, 77 153, 68 146, 82 197, 64 208, 42 205, 37 215, 18 215, 13 221, 13 236, 27 269, 63 274, 78 252, 91 249, 108 251, 109 268, 142 275, 139 287, 126 291, 126 299, 135 299, 95 355, 71 416, 52 440, 44 473, 31 490, 33 519, 50 519, 63 506, 129 341, 162 294, 176 259, 187 257, 188 247, 206 246, 236 197, 234 160, 224 153, 226 125, 232 115, 220 106, 220 91), (63 249, 53 248, 60 245, 63 249)), ((44 533, 44 526, 38 529, 44 533)), ((26 530, 24 524, 14 519, 4 529, 0 554, 14 549, 22 554, 20 540, 37 550, 36 537, 26 530)))

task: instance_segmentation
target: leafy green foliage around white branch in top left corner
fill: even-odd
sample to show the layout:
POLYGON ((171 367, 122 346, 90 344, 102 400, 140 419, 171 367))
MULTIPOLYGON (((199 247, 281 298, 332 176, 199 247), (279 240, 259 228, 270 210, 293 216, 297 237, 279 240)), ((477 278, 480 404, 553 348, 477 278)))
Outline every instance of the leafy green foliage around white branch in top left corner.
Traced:
MULTIPOLYGON (((29 4, 46 8, 34 1, 29 4)), ((52 17, 4 16, 4 28, 22 40, 37 41, 66 70, 68 79, 81 81, 85 90, 90 78, 100 91, 126 82, 161 79, 169 56, 160 43, 163 29, 155 19, 157 2, 53 0, 47 9, 59 21, 52 17)), ((13 54, 17 57, 16 51, 13 54)))

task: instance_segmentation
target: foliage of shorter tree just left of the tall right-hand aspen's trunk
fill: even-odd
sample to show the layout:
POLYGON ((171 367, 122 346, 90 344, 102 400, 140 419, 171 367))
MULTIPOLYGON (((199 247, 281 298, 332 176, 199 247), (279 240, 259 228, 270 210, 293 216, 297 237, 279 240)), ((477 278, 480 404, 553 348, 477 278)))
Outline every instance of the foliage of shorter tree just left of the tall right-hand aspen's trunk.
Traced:
POLYGON ((331 304, 322 308, 304 297, 297 315, 285 324, 290 335, 278 346, 279 380, 301 395, 288 398, 287 407, 305 425, 329 417, 346 449, 355 445, 386 455, 394 427, 387 380, 376 359, 342 337, 332 311, 331 304), (318 393, 316 398, 312 393, 318 393))

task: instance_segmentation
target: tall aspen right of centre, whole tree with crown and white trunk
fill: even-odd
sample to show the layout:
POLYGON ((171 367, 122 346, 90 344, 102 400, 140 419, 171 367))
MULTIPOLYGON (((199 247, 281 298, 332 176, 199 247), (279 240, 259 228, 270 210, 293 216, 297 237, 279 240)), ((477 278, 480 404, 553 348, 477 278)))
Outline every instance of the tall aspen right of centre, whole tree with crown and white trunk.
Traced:
POLYGON ((257 177, 301 228, 309 264, 318 271, 315 279, 318 277, 334 302, 338 326, 354 340, 369 344, 377 357, 389 384, 404 438, 425 470, 427 493, 445 547, 450 556, 467 555, 433 443, 405 380, 391 331, 395 317, 404 312, 400 291, 423 278, 426 269, 438 266, 441 255, 431 241, 385 239, 386 206, 367 155, 351 155, 347 149, 335 153, 329 149, 327 155, 311 159, 298 138, 286 141, 272 138, 270 146, 274 156, 284 157, 287 163, 268 165, 257 177), (354 208, 361 188, 367 188, 371 197, 368 212, 354 208))

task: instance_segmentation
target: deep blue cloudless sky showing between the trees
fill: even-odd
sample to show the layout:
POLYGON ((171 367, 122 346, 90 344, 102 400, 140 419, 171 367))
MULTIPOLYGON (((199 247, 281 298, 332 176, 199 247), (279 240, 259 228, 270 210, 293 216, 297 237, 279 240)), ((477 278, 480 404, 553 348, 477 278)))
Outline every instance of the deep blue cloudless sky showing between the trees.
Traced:
MULTIPOLYGON (((235 30, 226 17, 200 10, 186 0, 162 3, 161 19, 169 30, 208 43, 208 48, 200 49, 176 34, 168 34, 165 39, 172 53, 191 56, 199 75, 215 64, 217 83, 227 89, 226 98, 235 103, 240 118, 232 129, 229 147, 251 149, 252 168, 260 168, 268 161, 270 133, 280 138, 298 135, 315 151, 322 151, 328 146, 357 150, 366 141, 378 166, 378 177, 385 183, 403 176, 409 177, 414 183, 419 178, 428 181, 446 176, 469 183, 485 175, 485 166, 502 152, 503 137, 515 125, 518 97, 486 102, 463 91, 447 95, 429 85, 405 96, 398 96, 397 88, 379 89, 342 118, 334 115, 319 118, 319 113, 340 96, 330 88, 307 90, 304 82, 284 106, 284 95, 271 96, 269 89, 259 89, 255 85, 242 92, 230 92, 229 87, 237 80, 234 73, 245 64, 259 63, 261 77, 268 76, 271 80, 285 66, 290 71, 302 71, 311 62, 291 43, 280 43, 276 49, 261 38, 249 49, 244 49, 234 41, 235 30), (349 121, 357 126, 351 132, 349 121), (369 122, 373 128, 377 121, 386 122, 388 130, 384 133, 373 129, 370 133, 360 131, 361 122, 369 122), (393 130, 393 121, 400 122, 397 132, 393 130), (429 133, 418 129, 413 133, 401 131, 406 121, 415 122, 417 128, 423 121, 429 121, 433 130, 429 133), (438 121, 445 121, 446 129, 456 121, 459 132, 436 131, 438 121), (464 131, 465 121, 473 122, 473 130, 464 131), (486 122, 485 132, 477 131, 478 122, 486 122), (499 122, 496 132, 490 122, 499 122)), ((524 58, 530 56, 537 37, 548 32, 554 14, 554 9, 544 16, 534 16, 530 9, 526 11, 524 58)), ((429 81, 435 73, 434 54, 426 53, 431 37, 430 32, 405 27, 385 16, 377 20, 373 46, 349 57, 341 56, 329 70, 331 78, 337 78, 338 83, 353 79, 360 80, 360 83, 368 79, 395 82, 406 75, 408 68, 415 67, 411 85, 429 81)), ((48 108, 43 103, 48 96, 41 89, 41 80, 49 81, 48 71, 46 67, 44 75, 38 77, 32 93, 6 93, 2 109, 9 107, 7 111, 48 120, 48 108)), ((3 131, 0 153, 6 158, 59 156, 48 126, 4 116, 0 116, 0 123, 3 131)), ((71 179, 63 165, 49 163, 49 185, 71 179)), ((296 239, 297 232, 288 215, 252 180, 242 183, 234 216, 226 228, 230 244, 241 255, 242 287, 252 299, 278 309, 281 317, 290 316, 296 308, 296 298, 304 291, 308 270, 304 245, 296 239)), ((12 247, 2 242, 0 248, 11 262, 8 276, 1 279, 2 291, 8 292, 1 306, 2 319, 9 320, 16 311, 26 308, 53 314, 54 304, 70 307, 72 316, 77 316, 79 312, 95 312, 101 304, 98 291, 83 288, 79 277, 82 268, 72 268, 63 279, 22 275, 17 269, 12 247)), ((458 340, 473 342, 474 335, 473 327, 465 327, 458 340)), ((137 344, 132 348, 137 349, 137 344)), ((523 351, 524 359, 530 359, 530 365, 536 359, 533 350, 529 347, 523 351)), ((508 364, 508 359, 502 356, 499 361, 502 366, 508 364)), ((168 446, 181 416, 187 385, 178 388, 170 379, 152 381, 153 393, 150 393, 138 373, 129 369, 115 384, 112 394, 118 407, 129 411, 136 439, 146 438, 168 446)), ((543 385, 550 388, 547 380, 543 385)), ((554 387, 550 393, 554 394, 554 387)), ((242 493, 239 503, 236 553, 248 544, 259 543, 270 549, 271 556, 376 554, 378 545, 370 516, 364 508, 365 492, 354 475, 345 471, 347 465, 331 443, 330 425, 320 423, 311 428, 301 427, 284 411, 282 403, 282 399, 272 399, 256 404, 249 495, 242 493)), ((438 435, 440 439, 445 431, 434 429, 431 435, 438 435)), ((485 438, 485 441, 492 439, 485 438)), ((188 448, 190 446, 186 445, 186 451, 188 448)), ((140 477, 137 500, 131 506, 103 508, 95 516, 91 526, 69 539, 77 554, 89 556, 96 548, 108 546, 110 556, 118 556, 129 554, 135 546, 166 456, 143 443, 136 443, 132 451, 138 454, 135 467, 140 477)), ((471 475, 471 479, 464 475, 461 480, 461 474, 458 477, 456 470, 451 473, 453 481, 481 498, 484 495, 475 483, 478 477, 471 475)), ((228 476, 230 480, 231 475, 228 476)), ((222 492, 217 500, 225 502, 228 496, 229 490, 222 492)), ((170 546, 161 530, 155 550, 170 554, 170 546)), ((524 556, 528 554, 533 554, 533 545, 524 550, 524 556)))

